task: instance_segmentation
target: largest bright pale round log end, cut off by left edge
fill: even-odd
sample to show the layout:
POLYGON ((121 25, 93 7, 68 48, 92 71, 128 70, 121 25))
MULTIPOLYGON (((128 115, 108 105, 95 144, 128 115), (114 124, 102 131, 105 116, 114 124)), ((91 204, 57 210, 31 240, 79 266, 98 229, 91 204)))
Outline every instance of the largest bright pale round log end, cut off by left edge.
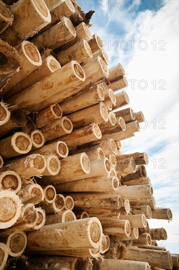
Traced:
POLYGON ((21 215, 21 200, 12 191, 0 191, 0 229, 11 227, 21 215))

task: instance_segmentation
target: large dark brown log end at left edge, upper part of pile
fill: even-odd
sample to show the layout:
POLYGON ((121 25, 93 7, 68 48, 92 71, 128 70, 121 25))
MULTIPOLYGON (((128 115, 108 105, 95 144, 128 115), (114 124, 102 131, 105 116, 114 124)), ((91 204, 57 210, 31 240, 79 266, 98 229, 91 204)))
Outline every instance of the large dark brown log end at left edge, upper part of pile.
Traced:
POLYGON ((19 69, 21 61, 22 57, 17 50, 0 39, 0 97, 3 95, 3 86, 19 69))

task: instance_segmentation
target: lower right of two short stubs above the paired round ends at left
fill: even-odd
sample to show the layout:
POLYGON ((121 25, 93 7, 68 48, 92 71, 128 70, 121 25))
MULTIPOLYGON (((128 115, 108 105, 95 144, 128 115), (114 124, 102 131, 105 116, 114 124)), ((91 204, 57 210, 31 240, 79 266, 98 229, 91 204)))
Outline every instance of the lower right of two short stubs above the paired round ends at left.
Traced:
POLYGON ((41 129, 45 140, 53 140, 64 136, 66 134, 70 134, 73 130, 73 124, 70 119, 64 116, 61 119, 57 119, 49 123, 47 126, 41 129))

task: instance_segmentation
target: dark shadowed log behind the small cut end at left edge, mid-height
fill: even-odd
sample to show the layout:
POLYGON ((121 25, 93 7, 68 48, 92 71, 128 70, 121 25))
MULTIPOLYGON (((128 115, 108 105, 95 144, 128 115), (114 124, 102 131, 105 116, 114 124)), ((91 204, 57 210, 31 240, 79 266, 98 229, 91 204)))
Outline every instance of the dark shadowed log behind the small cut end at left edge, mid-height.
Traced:
MULTIPOLYGON (((19 108, 18 106, 12 106, 8 108, 10 112, 10 118, 5 125, 0 126, 0 137, 7 135, 8 133, 21 128, 22 126, 26 125, 26 113, 19 108)), ((0 105, 0 114, 3 115, 4 118, 4 110, 0 105)), ((1 122, 1 121, 0 121, 1 122)))

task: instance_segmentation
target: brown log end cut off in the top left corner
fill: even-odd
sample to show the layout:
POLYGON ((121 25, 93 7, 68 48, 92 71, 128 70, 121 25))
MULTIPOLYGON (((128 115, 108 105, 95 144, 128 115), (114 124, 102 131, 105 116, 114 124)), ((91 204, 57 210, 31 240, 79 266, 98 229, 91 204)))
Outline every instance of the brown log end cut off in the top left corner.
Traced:
POLYGON ((12 25, 14 16, 10 8, 0 1, 0 34, 9 26, 12 25))

